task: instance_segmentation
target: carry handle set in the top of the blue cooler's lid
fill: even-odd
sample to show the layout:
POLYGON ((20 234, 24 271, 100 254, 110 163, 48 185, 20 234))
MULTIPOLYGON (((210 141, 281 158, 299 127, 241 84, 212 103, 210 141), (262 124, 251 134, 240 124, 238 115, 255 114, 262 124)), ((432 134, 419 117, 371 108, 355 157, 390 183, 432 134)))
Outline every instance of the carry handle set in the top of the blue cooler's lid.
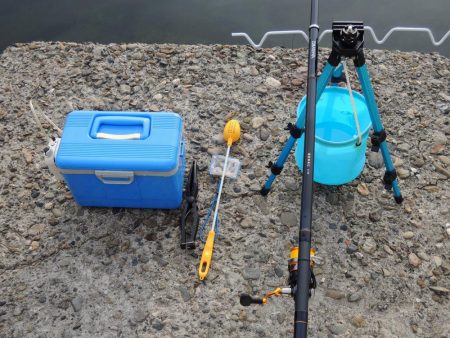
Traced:
POLYGON ((146 116, 96 116, 90 132, 94 139, 110 140, 142 140, 149 135, 150 118, 146 116))

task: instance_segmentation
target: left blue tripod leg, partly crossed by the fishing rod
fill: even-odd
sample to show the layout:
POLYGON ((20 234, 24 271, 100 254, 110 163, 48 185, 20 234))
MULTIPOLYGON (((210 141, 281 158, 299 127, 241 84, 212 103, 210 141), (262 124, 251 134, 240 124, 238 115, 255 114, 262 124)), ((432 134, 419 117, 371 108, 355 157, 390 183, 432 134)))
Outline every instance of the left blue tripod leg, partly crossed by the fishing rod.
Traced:
MULTIPOLYGON (((317 82, 317 101, 320 99, 320 95, 322 95, 327 83, 330 81, 331 75, 333 74, 334 66, 332 66, 330 63, 327 62, 325 65, 322 74, 320 75, 320 78, 317 82)), ((278 157, 278 160, 275 164, 269 163, 269 168, 271 170, 270 176, 267 178, 266 183, 261 189, 261 195, 265 196, 269 193, 272 183, 275 181, 275 178, 277 175, 281 173, 283 170, 284 163, 286 162, 292 147, 295 144, 295 141, 302 135, 303 129, 305 126, 305 114, 306 114, 306 107, 303 108, 300 115, 297 118, 297 122, 295 125, 292 125, 289 123, 288 129, 290 131, 291 136, 285 143, 283 150, 281 151, 280 156, 278 157)))

